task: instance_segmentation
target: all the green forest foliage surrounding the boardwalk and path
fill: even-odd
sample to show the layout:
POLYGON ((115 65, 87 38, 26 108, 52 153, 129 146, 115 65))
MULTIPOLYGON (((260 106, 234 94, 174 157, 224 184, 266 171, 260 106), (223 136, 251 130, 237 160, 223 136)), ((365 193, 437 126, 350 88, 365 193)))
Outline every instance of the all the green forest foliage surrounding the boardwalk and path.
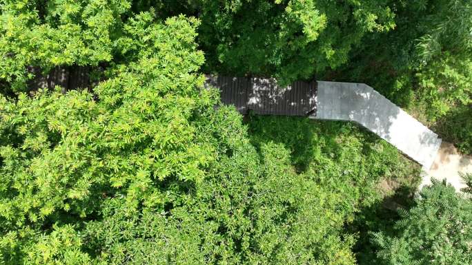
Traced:
POLYGON ((464 0, 0 0, 0 264, 472 264, 471 200, 413 200, 384 140, 203 89, 365 82, 472 153, 471 29, 464 0), (62 66, 90 87, 32 89, 62 66))

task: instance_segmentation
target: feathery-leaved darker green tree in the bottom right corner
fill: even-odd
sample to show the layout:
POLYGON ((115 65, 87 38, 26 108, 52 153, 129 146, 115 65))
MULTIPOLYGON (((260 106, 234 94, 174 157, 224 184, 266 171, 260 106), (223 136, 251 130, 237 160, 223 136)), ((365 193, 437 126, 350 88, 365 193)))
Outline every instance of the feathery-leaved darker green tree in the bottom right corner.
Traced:
POLYGON ((416 204, 400 211, 396 235, 373 233, 382 264, 471 264, 471 200, 444 182, 433 182, 416 204))

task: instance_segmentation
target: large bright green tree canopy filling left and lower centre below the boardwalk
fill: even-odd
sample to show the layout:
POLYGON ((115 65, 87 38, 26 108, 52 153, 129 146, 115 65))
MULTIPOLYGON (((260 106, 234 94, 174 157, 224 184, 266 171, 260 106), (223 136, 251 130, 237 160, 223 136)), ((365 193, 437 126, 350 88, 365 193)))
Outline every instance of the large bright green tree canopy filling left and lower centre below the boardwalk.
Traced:
POLYGON ((320 178, 253 147, 202 88, 197 25, 141 12, 96 87, 0 96, 3 263, 354 264, 343 226, 380 173, 333 182, 335 162, 320 178))

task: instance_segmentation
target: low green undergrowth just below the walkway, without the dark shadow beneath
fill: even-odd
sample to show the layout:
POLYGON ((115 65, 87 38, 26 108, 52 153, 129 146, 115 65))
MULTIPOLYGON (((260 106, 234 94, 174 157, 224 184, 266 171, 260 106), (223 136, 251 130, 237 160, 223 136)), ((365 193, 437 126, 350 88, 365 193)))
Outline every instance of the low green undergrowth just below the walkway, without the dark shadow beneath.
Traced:
MULTIPOLYGON (((381 198, 377 191, 381 179, 401 182, 418 176, 418 169, 395 147, 350 123, 253 116, 249 130, 256 147, 265 142, 284 145, 298 171, 316 176, 324 187, 343 194, 342 207, 352 213, 381 198)), ((404 184, 415 187, 416 181, 404 184)))

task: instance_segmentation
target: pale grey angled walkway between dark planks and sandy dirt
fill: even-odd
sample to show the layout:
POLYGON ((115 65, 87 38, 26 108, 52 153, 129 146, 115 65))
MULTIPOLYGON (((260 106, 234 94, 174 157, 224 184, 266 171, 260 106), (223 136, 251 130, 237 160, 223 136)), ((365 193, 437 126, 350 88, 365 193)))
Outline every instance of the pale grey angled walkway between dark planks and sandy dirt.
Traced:
POLYGON ((433 165, 441 139, 400 107, 360 83, 317 81, 317 115, 320 120, 350 120, 366 127, 425 171, 433 165))

